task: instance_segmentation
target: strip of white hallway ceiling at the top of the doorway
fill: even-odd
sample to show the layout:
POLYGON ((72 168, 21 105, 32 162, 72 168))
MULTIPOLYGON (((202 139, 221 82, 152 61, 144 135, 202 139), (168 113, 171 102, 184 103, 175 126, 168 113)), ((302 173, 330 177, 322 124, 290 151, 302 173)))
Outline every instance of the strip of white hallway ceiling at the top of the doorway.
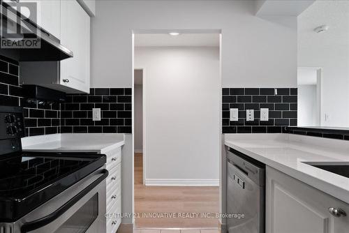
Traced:
POLYGON ((202 46, 219 47, 218 33, 183 33, 170 36, 168 33, 135 34, 135 47, 174 47, 174 46, 202 46))

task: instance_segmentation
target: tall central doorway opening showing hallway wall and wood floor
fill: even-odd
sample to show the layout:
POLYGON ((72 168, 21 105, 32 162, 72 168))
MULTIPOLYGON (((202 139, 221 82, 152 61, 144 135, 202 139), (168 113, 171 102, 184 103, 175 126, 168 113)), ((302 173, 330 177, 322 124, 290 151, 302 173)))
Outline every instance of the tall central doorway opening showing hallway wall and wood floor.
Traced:
POLYGON ((205 214, 219 212, 220 41, 217 31, 134 34, 138 229, 218 230, 205 214))

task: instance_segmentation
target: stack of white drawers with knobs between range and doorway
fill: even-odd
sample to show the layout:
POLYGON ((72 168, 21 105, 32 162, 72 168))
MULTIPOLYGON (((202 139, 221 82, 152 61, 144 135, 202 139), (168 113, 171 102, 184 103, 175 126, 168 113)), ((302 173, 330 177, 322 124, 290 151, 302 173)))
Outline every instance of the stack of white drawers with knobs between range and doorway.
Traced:
POLYGON ((121 224, 121 147, 113 149, 107 153, 107 233, 117 232, 117 228, 121 224))

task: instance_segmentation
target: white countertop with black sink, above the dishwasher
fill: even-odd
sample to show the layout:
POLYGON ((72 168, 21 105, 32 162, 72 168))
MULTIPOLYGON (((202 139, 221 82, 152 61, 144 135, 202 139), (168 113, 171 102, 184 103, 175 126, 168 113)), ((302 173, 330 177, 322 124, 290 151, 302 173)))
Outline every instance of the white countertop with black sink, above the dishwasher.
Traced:
POLYGON ((349 141, 288 134, 225 134, 225 145, 349 203, 349 178, 302 163, 349 162, 349 141))

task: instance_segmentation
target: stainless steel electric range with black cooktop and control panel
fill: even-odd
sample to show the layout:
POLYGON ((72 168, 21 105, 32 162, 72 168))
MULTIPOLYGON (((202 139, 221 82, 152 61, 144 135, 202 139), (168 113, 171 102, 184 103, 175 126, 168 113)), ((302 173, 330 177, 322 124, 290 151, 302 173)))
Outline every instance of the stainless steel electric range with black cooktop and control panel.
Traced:
POLYGON ((0 232, 105 232, 105 155, 22 151, 21 107, 0 106, 0 232))

